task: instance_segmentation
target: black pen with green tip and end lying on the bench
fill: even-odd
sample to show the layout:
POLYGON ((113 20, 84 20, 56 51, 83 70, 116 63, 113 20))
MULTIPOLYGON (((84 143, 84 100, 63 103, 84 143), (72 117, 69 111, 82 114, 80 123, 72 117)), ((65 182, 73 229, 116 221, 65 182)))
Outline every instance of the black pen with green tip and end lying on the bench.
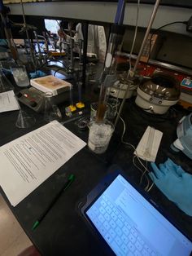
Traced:
POLYGON ((71 183, 73 182, 74 179, 75 179, 75 176, 73 174, 71 174, 68 177, 67 183, 64 184, 63 188, 58 192, 58 194, 50 202, 50 205, 47 206, 46 210, 44 210, 44 212, 41 214, 41 216, 39 218, 37 218, 37 221, 33 224, 33 227, 32 227, 33 230, 39 225, 39 223, 41 223, 42 219, 49 212, 50 208, 55 204, 55 202, 58 200, 58 198, 62 194, 62 192, 65 191, 66 189, 68 189, 68 187, 71 185, 71 183))

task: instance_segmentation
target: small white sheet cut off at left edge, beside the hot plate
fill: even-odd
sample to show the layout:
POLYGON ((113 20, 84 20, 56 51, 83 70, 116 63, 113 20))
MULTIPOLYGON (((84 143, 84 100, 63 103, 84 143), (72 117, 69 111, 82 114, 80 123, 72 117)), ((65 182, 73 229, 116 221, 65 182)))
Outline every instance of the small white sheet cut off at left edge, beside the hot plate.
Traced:
POLYGON ((18 109, 20 109, 20 105, 13 90, 0 93, 0 113, 18 109))

